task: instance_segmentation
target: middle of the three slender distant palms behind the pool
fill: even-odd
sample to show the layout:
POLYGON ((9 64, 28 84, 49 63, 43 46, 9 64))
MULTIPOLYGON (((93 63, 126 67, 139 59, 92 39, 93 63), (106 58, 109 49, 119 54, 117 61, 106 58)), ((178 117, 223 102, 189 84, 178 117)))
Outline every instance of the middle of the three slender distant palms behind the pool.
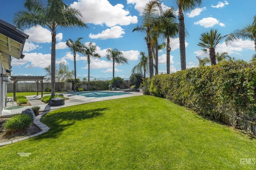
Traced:
POLYGON ((100 54, 96 53, 96 45, 90 42, 88 45, 84 45, 82 53, 87 56, 88 62, 88 91, 90 91, 90 56, 94 58, 100 58, 100 54))

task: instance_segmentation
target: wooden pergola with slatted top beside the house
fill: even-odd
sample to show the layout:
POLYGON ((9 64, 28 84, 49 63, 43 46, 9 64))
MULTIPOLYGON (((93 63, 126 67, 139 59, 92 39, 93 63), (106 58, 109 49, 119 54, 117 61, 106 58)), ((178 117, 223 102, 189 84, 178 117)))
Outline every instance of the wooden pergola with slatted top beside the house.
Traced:
POLYGON ((43 92, 44 92, 44 85, 43 81, 45 76, 11 76, 10 80, 13 81, 13 97, 16 97, 16 83, 18 81, 36 81, 37 83, 37 92, 36 95, 38 95, 38 84, 39 81, 41 83, 41 97, 43 97, 43 92))

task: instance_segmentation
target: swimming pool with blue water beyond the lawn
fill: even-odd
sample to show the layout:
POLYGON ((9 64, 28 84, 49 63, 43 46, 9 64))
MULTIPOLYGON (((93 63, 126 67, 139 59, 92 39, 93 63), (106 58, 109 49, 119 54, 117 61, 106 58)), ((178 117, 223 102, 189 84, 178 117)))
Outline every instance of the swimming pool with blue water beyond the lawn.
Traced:
POLYGON ((76 92, 76 93, 68 93, 72 95, 80 95, 84 97, 109 97, 109 96, 118 96, 118 95, 127 95, 131 93, 127 92, 108 92, 108 91, 82 91, 82 92, 76 92))

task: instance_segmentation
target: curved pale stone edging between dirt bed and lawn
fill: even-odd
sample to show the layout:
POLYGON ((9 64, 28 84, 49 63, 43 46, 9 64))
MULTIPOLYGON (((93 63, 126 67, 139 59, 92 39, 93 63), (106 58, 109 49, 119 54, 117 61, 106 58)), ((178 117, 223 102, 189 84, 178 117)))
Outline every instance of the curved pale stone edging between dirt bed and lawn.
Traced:
POLYGON ((7 141, 7 142, 2 142, 0 143, 0 146, 4 146, 6 144, 11 144, 11 143, 15 143, 15 142, 19 142, 19 141, 22 141, 22 140, 25 140, 25 139, 28 139, 28 138, 32 138, 32 137, 35 137, 35 136, 38 136, 40 134, 43 134, 45 132, 48 132, 48 130, 50 129, 48 126, 46 126, 45 124, 43 124, 42 122, 40 122, 40 119, 43 115, 45 115, 46 113, 48 113, 49 111, 46 111, 40 115, 38 115, 35 119, 34 119, 34 124, 36 126, 38 126, 40 129, 42 129, 41 132, 38 132, 38 133, 35 133, 35 134, 32 134, 30 136, 25 136, 23 138, 19 138, 19 139, 15 139, 15 140, 12 140, 12 141, 7 141))

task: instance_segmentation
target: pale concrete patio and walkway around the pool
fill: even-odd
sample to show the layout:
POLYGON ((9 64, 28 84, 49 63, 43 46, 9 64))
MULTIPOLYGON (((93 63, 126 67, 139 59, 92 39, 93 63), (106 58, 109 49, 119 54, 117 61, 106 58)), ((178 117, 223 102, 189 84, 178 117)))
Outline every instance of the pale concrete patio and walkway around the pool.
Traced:
MULTIPOLYGON (((109 92, 109 91, 107 91, 109 92)), ((119 92, 119 93, 124 93, 124 91, 114 91, 114 92, 119 92)), ((57 94, 57 93, 56 93, 57 94)), ((41 95, 39 96, 26 96, 28 99, 28 102, 31 104, 31 106, 24 106, 22 108, 19 109, 3 109, 2 110, 2 117, 10 117, 12 115, 16 115, 21 113, 22 111, 24 111, 25 109, 31 108, 33 106, 39 106, 40 107, 40 111, 50 111, 52 109, 59 109, 62 107, 68 107, 68 106, 74 106, 74 105, 81 105, 84 103, 92 103, 92 102, 96 102, 96 101, 106 101, 106 100, 111 100, 111 99, 120 99, 120 98, 125 98, 125 97, 133 97, 133 96, 140 96, 143 95, 142 93, 139 92, 129 92, 129 94, 125 94, 125 95, 117 95, 117 96, 110 96, 110 97, 84 97, 84 96, 80 96, 80 95, 75 95, 75 94, 71 94, 71 93, 62 93, 64 95, 65 98, 68 98, 68 100, 65 100, 65 104, 64 105, 60 105, 60 106, 50 106, 48 105, 48 103, 44 103, 42 101, 40 101, 39 99, 41 99, 41 95)), ((44 95, 45 96, 45 95, 44 95)), ((12 107, 12 106, 17 106, 16 102, 8 102, 6 105, 6 108, 8 107, 12 107)))

